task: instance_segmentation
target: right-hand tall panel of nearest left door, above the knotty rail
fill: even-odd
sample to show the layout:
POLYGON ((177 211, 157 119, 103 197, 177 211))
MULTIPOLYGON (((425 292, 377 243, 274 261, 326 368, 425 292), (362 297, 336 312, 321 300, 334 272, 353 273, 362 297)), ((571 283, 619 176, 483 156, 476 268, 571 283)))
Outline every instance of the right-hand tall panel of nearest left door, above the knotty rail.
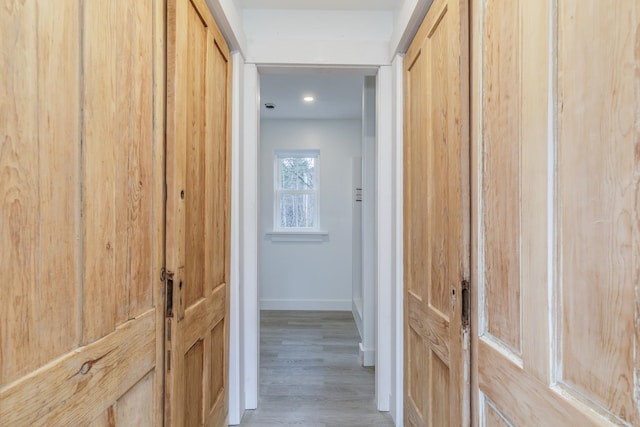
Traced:
POLYGON ((150 1, 83 8, 85 343, 152 303, 151 10, 150 1))

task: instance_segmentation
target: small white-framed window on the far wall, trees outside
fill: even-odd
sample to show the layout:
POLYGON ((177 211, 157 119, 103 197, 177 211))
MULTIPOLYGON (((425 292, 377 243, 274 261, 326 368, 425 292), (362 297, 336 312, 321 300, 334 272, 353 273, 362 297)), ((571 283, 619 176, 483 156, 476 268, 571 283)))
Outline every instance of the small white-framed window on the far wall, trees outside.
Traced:
POLYGON ((274 165, 274 229, 319 229, 318 150, 277 151, 274 165))

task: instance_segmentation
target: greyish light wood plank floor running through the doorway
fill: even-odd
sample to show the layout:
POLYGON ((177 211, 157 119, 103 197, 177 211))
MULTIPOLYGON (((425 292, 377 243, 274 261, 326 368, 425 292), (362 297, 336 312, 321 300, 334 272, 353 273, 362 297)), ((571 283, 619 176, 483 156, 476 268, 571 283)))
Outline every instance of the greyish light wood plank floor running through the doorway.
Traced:
POLYGON ((376 410, 350 312, 262 311, 260 396, 241 426, 393 426, 376 410))

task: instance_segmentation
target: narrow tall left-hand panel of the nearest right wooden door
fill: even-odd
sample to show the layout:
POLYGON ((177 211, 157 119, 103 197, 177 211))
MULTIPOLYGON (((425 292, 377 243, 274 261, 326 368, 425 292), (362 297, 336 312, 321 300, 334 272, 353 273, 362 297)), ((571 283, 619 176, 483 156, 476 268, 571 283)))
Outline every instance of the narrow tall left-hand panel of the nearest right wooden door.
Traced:
POLYGON ((521 353, 520 2, 485 4, 483 42, 482 199, 484 280, 482 328, 521 353))

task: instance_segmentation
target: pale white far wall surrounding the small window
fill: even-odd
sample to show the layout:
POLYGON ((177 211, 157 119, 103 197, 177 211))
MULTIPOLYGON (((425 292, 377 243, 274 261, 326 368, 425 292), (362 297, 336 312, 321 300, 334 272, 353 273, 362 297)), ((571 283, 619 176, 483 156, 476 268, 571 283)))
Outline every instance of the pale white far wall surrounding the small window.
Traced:
POLYGON ((351 310, 352 158, 361 155, 360 120, 260 123, 260 305, 262 309, 351 310), (320 150, 322 242, 274 242, 273 155, 320 150))

